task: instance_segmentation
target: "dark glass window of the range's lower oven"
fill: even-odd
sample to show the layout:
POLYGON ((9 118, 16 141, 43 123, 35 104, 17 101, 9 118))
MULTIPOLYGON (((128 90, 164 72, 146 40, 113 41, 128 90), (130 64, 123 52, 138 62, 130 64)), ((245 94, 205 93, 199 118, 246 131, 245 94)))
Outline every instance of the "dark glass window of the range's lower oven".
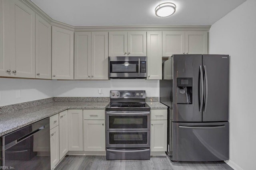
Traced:
POLYGON ((109 144, 147 144, 147 132, 110 132, 109 144))

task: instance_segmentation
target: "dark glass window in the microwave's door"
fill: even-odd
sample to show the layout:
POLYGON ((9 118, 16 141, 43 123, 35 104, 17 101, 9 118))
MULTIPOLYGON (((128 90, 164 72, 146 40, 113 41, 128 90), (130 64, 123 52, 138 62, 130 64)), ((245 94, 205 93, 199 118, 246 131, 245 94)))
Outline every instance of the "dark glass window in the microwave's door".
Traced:
POLYGON ((136 61, 112 61, 110 62, 110 72, 138 72, 138 62, 136 61))

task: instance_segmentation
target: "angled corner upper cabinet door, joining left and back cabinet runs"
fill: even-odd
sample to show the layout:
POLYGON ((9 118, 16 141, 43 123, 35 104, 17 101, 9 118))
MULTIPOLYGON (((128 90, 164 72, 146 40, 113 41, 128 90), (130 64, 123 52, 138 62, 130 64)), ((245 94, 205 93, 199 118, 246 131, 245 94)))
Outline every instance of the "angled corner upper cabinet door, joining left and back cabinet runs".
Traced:
POLYGON ((52 26, 52 79, 74 79, 74 32, 52 26))

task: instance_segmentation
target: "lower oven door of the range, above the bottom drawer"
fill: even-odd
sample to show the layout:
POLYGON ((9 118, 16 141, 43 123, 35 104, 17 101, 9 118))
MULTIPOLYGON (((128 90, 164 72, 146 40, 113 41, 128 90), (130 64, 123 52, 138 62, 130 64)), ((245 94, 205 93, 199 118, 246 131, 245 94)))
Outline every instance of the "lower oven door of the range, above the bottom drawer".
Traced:
POLYGON ((150 131, 106 131, 106 148, 150 148, 150 131))

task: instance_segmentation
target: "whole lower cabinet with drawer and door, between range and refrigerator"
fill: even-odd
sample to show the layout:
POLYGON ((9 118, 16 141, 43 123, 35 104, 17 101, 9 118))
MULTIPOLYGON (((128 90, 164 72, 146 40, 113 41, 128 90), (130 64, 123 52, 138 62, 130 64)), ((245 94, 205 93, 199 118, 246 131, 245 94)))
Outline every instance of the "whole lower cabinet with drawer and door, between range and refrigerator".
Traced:
POLYGON ((151 110, 150 152, 167 150, 167 110, 151 110), (155 120, 152 120, 155 119, 155 120))

